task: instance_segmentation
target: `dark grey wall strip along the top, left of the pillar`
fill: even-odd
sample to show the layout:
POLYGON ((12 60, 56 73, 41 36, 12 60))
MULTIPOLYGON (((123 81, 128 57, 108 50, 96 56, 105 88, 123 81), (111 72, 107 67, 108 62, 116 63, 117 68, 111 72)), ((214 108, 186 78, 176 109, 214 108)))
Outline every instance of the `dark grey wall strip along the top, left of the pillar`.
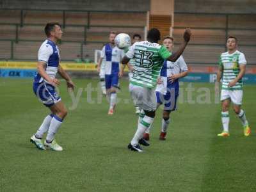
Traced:
POLYGON ((144 12, 150 0, 0 0, 0 8, 144 12))

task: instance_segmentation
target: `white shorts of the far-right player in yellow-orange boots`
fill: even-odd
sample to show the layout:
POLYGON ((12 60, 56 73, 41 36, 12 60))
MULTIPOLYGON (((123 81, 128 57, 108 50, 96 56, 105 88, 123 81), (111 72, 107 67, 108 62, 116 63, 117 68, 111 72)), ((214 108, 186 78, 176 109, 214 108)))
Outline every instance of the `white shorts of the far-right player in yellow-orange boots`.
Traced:
POLYGON ((236 105, 241 105, 243 100, 243 90, 221 90, 220 100, 231 99, 236 105))

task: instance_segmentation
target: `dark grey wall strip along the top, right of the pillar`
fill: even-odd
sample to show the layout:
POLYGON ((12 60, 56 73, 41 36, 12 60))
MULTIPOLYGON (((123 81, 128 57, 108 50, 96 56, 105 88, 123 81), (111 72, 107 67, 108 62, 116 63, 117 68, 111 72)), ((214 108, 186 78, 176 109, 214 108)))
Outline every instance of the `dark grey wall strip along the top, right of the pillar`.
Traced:
POLYGON ((256 0, 175 0, 175 12, 256 13, 256 0))

